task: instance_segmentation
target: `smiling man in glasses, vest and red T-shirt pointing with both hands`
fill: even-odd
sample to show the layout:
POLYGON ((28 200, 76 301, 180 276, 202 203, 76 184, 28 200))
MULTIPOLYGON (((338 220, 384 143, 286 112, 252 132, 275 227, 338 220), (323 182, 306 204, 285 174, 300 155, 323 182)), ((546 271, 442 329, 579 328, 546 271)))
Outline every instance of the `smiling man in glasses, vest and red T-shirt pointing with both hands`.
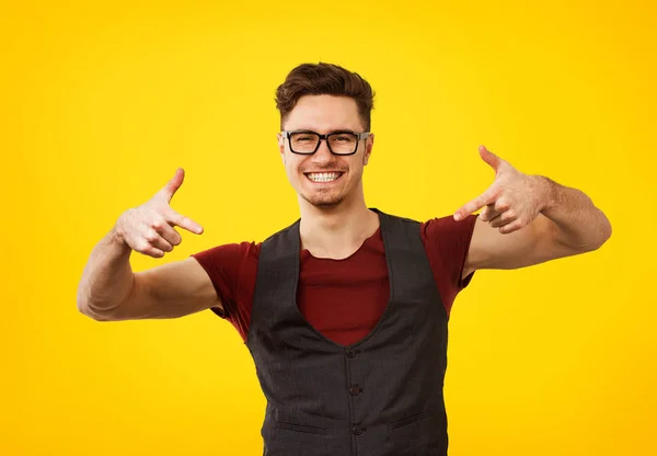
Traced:
POLYGON ((300 220, 261 243, 219 246, 132 273, 132 250, 160 258, 178 226, 183 171, 129 209, 93 250, 78 293, 96 320, 231 321, 267 398, 268 455, 446 455, 447 323, 474 271, 598 249, 606 216, 580 191, 514 169, 485 147, 494 183, 454 215, 418 223, 366 206, 373 92, 357 73, 295 68, 277 91, 278 148, 300 220), (482 209, 477 215, 472 213, 482 209))

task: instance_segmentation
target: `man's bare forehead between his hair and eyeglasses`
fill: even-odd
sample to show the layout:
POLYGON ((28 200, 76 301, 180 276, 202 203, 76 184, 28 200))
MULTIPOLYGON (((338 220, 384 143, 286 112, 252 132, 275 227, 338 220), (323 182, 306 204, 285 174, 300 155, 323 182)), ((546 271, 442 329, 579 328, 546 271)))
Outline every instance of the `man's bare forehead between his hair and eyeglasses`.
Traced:
POLYGON ((285 129, 312 129, 318 133, 336 129, 362 129, 356 101, 348 96, 303 95, 285 122, 285 129))

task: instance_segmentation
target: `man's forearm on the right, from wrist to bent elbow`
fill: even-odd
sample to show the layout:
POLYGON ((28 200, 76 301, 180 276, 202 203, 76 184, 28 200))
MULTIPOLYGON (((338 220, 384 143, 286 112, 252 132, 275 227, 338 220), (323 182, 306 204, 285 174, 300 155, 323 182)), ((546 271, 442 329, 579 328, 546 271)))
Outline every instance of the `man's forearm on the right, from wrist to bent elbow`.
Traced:
POLYGON ((554 223, 560 242, 577 251, 596 250, 611 236, 611 224, 584 192, 535 176, 544 186, 541 214, 554 223))

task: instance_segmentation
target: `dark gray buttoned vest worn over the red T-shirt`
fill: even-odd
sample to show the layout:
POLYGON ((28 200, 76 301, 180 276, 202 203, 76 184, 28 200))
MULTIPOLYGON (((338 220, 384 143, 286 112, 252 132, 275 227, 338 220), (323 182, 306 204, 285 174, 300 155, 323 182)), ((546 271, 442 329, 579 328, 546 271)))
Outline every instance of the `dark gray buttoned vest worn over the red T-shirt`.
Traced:
POLYGON ((300 220, 262 244, 246 346, 267 399, 264 455, 447 455, 447 312, 419 223, 373 210, 390 298, 376 328, 349 346, 297 307, 300 220))

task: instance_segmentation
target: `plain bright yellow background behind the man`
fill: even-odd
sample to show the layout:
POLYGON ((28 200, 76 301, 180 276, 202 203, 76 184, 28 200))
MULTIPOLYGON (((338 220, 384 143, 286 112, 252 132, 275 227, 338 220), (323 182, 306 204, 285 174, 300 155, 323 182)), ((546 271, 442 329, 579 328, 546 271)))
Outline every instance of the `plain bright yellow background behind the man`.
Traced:
POLYGON ((136 271, 296 219, 274 90, 322 60, 377 91, 368 205, 451 214, 493 181, 484 144, 614 228, 457 298, 450 456, 657 455, 656 7, 457 3, 2 2, 0 453, 262 454, 264 399, 229 323, 100 323, 76 290, 176 167, 172 205, 205 233, 136 271))

